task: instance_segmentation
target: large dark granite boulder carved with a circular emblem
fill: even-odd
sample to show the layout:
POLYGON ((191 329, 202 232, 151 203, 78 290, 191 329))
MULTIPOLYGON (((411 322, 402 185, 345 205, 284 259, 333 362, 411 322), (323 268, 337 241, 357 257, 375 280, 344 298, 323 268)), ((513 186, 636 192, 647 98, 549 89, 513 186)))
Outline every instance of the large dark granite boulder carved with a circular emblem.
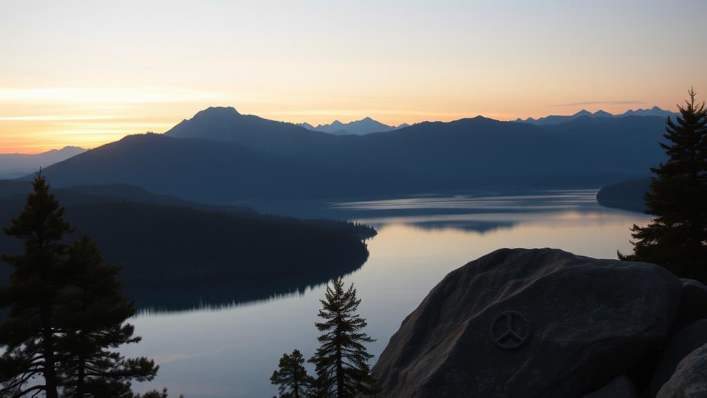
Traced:
POLYGON ((497 250, 445 276, 373 374, 383 397, 581 397, 665 341, 681 288, 650 264, 497 250))

